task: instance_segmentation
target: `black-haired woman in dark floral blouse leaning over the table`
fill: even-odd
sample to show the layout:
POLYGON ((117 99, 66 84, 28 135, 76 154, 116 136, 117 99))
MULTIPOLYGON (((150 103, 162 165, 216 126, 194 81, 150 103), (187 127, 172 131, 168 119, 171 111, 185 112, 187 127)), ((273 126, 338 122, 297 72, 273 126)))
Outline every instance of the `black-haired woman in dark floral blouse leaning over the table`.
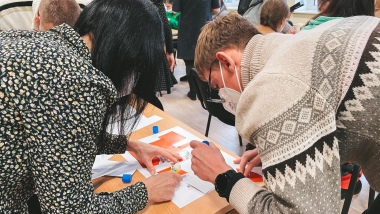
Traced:
POLYGON ((154 90, 156 65, 164 59, 156 8, 147 0, 94 0, 74 29, 0 33, 3 212, 26 212, 36 192, 47 213, 136 213, 148 200, 170 200, 182 180, 169 172, 94 193, 96 154, 133 151, 152 174, 155 156, 173 162, 180 156, 123 134, 132 128, 126 118, 136 123, 147 104, 129 94, 154 90), (145 33, 136 34, 137 26, 145 33), (118 136, 106 132, 116 118, 118 136))

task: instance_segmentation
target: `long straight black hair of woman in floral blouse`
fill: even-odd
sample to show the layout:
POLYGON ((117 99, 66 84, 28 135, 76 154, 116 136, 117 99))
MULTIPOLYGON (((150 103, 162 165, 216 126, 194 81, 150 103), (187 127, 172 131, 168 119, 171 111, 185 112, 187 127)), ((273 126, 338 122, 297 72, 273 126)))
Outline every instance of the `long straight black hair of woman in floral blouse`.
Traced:
POLYGON ((165 59, 158 11, 149 0, 94 0, 74 29, 80 36, 90 36, 92 64, 112 80, 118 93, 103 120, 98 147, 105 145, 107 127, 115 122, 120 124, 119 140, 125 140, 124 133, 133 129, 147 105, 140 97, 154 93, 156 67, 165 59), (127 127, 127 120, 132 125, 127 127))

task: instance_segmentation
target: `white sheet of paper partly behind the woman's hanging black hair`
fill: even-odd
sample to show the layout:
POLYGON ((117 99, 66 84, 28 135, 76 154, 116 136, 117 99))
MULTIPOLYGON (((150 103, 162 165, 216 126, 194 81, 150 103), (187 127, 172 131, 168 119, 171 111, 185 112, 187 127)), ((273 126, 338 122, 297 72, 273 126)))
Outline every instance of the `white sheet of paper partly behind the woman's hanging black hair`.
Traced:
MULTIPOLYGON (((134 114, 136 112, 136 110, 134 108, 132 108, 132 114, 134 114)), ((130 130, 130 131, 126 131, 124 132, 124 134, 129 134, 131 132, 134 132, 134 131, 137 131, 139 129, 142 129, 146 126, 149 126, 149 125, 152 125, 153 123, 156 123, 160 120, 162 120, 163 118, 162 117, 159 117, 157 115, 153 115, 151 117, 145 117, 144 115, 140 115, 140 118, 139 118, 139 121, 138 123, 136 124, 136 126, 134 127, 133 130, 130 130)), ((132 122, 133 120, 127 120, 126 123, 125 123, 125 127, 128 128, 132 125, 132 122)), ((120 124, 119 122, 116 122, 114 124, 112 124, 112 126, 108 126, 107 128, 107 132, 110 133, 110 134, 119 134, 119 127, 120 127, 120 124)))

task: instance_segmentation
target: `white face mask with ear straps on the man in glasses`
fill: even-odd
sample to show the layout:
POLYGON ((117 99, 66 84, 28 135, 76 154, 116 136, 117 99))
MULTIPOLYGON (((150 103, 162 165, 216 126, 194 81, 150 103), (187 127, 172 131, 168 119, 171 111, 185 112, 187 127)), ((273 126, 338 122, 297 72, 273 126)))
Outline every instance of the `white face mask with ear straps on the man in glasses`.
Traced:
MULTIPOLYGON (((231 57, 230 57, 231 59, 231 57)), ((232 59, 231 59, 232 60, 232 59)), ((236 79, 238 80, 239 88, 240 88, 240 93, 231 89, 227 88, 226 84, 224 83, 224 77, 223 77, 223 72, 222 72, 222 64, 219 62, 220 66, 220 73, 222 75, 222 80, 223 80, 223 88, 219 90, 219 96, 220 98, 224 99, 225 102, 223 103, 224 109, 226 109, 228 112, 231 114, 235 115, 236 114, 236 107, 240 99, 240 95, 243 92, 240 86, 240 81, 239 81, 239 76, 236 70, 236 65, 235 65, 235 74, 236 74, 236 79)))

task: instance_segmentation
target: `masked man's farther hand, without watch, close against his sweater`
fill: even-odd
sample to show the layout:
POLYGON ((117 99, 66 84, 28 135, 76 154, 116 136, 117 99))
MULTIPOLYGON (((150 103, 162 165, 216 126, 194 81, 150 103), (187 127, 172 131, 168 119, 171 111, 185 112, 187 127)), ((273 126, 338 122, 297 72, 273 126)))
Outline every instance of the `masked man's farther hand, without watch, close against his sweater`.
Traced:
POLYGON ((261 158, 257 149, 254 149, 244 152, 241 158, 234 160, 234 163, 240 163, 240 172, 243 173, 245 177, 248 177, 253 167, 261 163, 261 158), (245 168, 246 166, 247 168, 245 168))

